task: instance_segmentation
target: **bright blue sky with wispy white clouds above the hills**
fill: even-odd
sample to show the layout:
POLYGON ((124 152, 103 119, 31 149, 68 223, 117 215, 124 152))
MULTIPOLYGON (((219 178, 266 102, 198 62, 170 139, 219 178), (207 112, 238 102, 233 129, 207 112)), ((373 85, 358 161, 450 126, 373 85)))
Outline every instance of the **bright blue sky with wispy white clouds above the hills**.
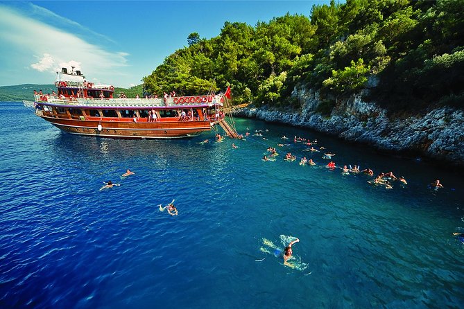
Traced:
POLYGON ((316 1, 0 1, 0 86, 51 84, 71 66, 117 87, 141 84, 190 33, 309 16, 316 1))

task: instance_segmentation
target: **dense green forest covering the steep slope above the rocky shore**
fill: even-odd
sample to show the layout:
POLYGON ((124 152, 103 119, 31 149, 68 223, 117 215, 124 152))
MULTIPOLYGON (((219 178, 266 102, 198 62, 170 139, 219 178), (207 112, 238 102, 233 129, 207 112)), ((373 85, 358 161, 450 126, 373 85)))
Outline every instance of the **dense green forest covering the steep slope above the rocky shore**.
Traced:
POLYGON ((463 106, 464 0, 332 1, 308 17, 226 22, 217 37, 191 33, 187 43, 144 77, 146 91, 191 95, 231 85, 235 104, 298 109, 290 94, 302 85, 320 91, 329 110, 370 87, 390 110, 463 106))

